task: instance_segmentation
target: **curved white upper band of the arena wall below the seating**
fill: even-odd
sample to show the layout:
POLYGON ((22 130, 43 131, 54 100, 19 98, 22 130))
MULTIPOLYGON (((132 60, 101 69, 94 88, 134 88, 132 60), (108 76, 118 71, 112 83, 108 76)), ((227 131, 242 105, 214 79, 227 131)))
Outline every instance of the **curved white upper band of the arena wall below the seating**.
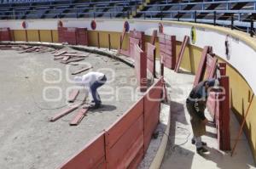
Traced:
MULTIPOLYGON (((24 20, 0 20, 0 27, 10 27, 12 30, 22 30, 24 20)), ((27 30, 56 30, 59 20, 26 20, 27 30)), ((87 19, 63 19, 61 20, 65 27, 87 27, 90 29, 91 20, 87 19)), ((119 31, 123 30, 124 20, 96 20, 96 31, 119 31)), ((153 30, 158 30, 158 22, 149 20, 129 20, 130 30, 145 31, 146 35, 151 35, 153 30)), ((177 36, 177 41, 183 41, 185 35, 190 36, 191 26, 178 25, 173 23, 164 23, 164 32, 168 35, 177 36)), ((255 50, 242 42, 240 39, 231 37, 230 59, 225 57, 224 41, 226 34, 218 31, 212 31, 206 28, 196 28, 195 46, 203 48, 212 46, 213 52, 233 65, 242 76, 247 80, 253 92, 256 93, 256 54, 255 50)))

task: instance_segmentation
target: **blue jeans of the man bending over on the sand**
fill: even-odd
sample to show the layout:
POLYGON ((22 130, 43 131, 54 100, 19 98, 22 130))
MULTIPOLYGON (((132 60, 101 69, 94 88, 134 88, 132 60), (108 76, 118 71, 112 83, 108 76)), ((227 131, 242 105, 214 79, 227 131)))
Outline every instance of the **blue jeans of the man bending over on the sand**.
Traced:
POLYGON ((100 95, 97 92, 97 88, 101 87, 103 84, 105 84, 106 81, 107 81, 107 77, 103 76, 101 80, 98 80, 98 81, 92 83, 90 86, 90 92, 91 92, 92 98, 94 100, 94 103, 96 105, 102 104, 100 95))

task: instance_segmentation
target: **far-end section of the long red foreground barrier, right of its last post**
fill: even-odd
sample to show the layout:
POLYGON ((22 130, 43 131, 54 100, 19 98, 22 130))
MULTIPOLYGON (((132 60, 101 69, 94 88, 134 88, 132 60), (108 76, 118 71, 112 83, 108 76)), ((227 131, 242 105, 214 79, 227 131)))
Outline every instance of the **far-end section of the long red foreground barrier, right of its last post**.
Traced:
POLYGON ((147 151, 152 134, 159 123, 162 92, 163 79, 160 78, 154 86, 148 88, 144 96, 144 152, 147 151))

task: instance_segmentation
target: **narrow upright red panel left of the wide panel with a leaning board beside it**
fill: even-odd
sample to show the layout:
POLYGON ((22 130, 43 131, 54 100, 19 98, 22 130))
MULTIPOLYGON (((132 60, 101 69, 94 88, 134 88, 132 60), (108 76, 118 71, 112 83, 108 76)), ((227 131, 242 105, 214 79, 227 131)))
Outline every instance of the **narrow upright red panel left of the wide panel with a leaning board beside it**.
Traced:
POLYGON ((155 46, 147 43, 147 68, 155 77, 155 46))

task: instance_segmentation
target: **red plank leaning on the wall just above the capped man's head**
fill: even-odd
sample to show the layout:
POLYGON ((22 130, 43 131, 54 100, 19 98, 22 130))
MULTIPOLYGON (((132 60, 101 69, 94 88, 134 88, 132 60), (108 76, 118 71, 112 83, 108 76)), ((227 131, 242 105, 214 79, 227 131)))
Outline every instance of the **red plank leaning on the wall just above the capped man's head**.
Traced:
POLYGON ((203 79, 203 76, 204 76, 204 73, 205 73, 205 70, 206 70, 206 61, 207 61, 207 54, 209 53, 210 51, 210 48, 209 46, 205 46, 202 53, 201 53, 201 60, 200 60, 200 63, 199 63, 199 66, 198 66, 198 69, 195 73, 195 82, 194 82, 194 87, 195 85, 197 85, 199 82, 202 81, 203 79))

